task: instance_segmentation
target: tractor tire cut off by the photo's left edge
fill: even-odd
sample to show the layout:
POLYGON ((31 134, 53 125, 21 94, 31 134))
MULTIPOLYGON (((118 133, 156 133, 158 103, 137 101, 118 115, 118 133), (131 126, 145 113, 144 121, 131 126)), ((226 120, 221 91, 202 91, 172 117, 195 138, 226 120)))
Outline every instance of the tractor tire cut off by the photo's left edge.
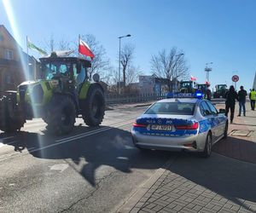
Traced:
POLYGON ((15 94, 0 98, 0 130, 15 132, 25 124, 25 117, 18 110, 15 94))

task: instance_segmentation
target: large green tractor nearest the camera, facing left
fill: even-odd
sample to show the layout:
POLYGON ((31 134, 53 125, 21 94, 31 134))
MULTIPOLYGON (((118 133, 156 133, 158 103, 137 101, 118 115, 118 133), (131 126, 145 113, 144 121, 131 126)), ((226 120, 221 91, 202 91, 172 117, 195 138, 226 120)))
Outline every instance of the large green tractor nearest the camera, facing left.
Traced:
POLYGON ((78 117, 88 126, 101 124, 104 90, 98 74, 89 81, 90 60, 58 57, 54 52, 40 61, 41 79, 21 83, 17 91, 6 91, 0 98, 0 130, 20 130, 32 118, 43 118, 55 135, 70 133, 78 117))

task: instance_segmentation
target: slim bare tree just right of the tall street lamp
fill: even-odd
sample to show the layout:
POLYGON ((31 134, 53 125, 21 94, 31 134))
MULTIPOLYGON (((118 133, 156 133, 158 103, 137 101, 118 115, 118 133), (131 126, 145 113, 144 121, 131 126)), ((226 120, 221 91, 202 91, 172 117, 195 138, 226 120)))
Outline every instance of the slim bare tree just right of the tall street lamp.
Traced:
POLYGON ((133 59, 133 54, 134 54, 135 46, 132 43, 126 43, 123 48, 121 49, 120 53, 120 62, 122 65, 122 71, 123 71, 123 81, 126 85, 126 72, 127 68, 130 66, 131 67, 131 62, 133 59))

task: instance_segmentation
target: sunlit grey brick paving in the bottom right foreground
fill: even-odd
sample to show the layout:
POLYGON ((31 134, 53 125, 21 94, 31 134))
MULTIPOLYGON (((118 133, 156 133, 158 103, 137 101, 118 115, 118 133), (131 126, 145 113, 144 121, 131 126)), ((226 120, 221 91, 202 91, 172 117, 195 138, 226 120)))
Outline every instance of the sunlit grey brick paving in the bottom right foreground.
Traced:
POLYGON ((244 199, 227 199, 207 187, 166 170, 131 212, 252 213, 256 212, 256 203, 244 199))

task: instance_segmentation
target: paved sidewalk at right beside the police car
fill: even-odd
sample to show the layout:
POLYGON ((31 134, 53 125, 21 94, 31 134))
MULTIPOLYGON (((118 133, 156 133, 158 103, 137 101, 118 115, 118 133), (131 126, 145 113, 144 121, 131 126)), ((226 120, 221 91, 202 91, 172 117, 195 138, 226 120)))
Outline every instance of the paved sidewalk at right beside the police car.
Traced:
MULTIPOLYGON (((236 116, 237 110, 238 106, 236 116)), ((255 118, 247 103, 247 117, 235 117, 228 139, 213 147, 211 158, 180 153, 138 188, 119 212, 256 212, 255 118), (249 130, 253 132, 247 135, 249 130)))

